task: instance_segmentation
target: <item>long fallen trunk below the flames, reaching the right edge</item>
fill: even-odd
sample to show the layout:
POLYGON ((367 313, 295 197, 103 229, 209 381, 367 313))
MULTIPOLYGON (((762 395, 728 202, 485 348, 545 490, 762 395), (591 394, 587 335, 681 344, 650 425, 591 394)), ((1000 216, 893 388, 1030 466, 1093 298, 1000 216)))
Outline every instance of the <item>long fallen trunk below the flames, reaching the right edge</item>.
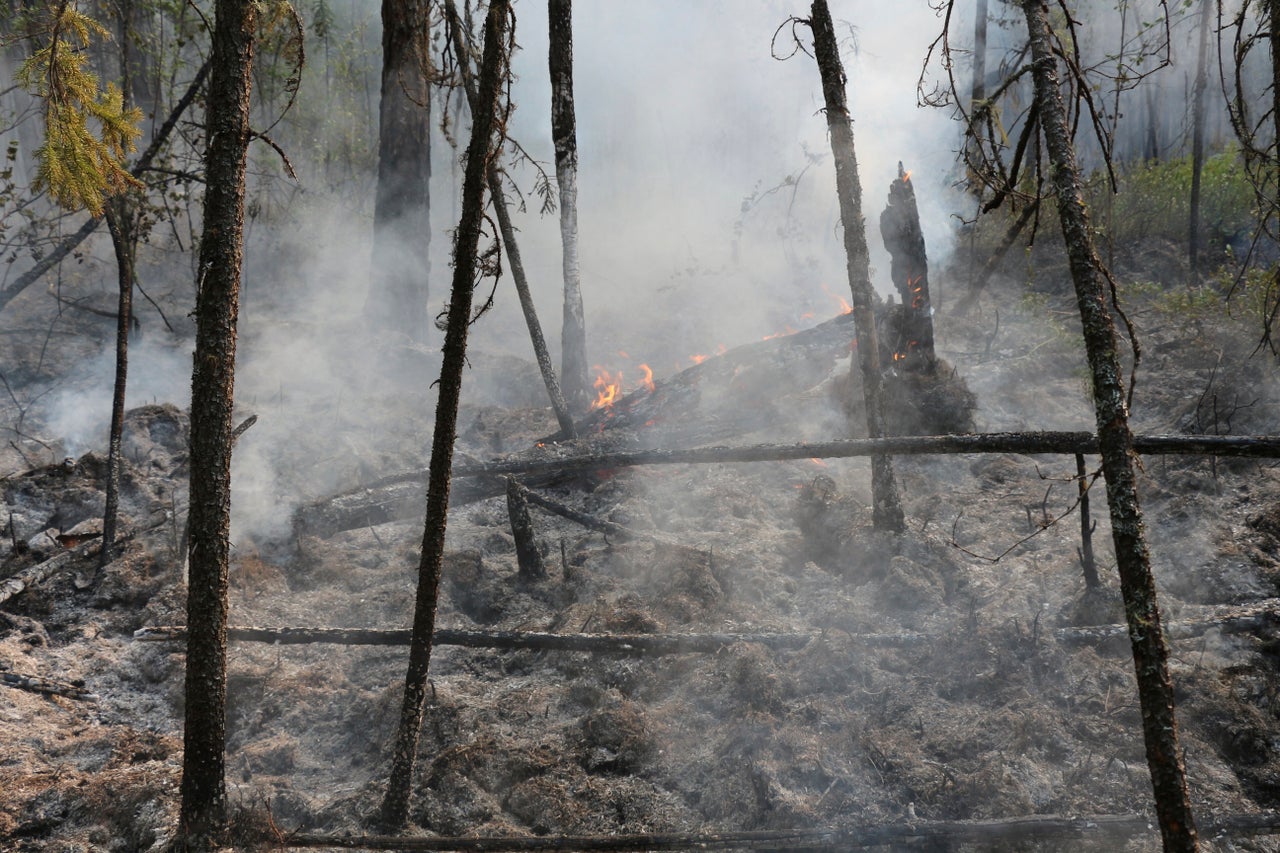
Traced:
MULTIPOLYGON (((534 447, 504 460, 466 462, 453 467, 454 506, 502 494, 499 476, 518 475, 527 485, 552 485, 580 476, 636 465, 695 465, 765 462, 806 459, 850 459, 884 453, 924 456, 954 453, 1092 453, 1098 439, 1084 432, 979 433, 965 435, 901 435, 847 438, 796 444, 746 444, 691 450, 620 450, 608 433, 563 444, 534 447)), ((1134 450, 1147 456, 1233 456, 1280 459, 1280 435, 1134 435, 1134 450)), ((406 471, 356 491, 301 507, 294 519, 300 534, 330 537, 343 530, 403 520, 421 511, 426 471, 406 471)))

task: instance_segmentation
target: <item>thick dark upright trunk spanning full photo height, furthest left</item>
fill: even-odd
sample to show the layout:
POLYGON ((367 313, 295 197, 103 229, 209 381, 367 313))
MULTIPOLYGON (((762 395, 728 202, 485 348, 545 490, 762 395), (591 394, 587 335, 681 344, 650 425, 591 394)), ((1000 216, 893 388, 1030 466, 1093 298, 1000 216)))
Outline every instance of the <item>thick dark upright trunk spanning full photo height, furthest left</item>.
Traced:
POLYGON ((191 542, 180 831, 211 849, 227 820, 227 569, 232 405, 256 0, 218 0, 206 106, 204 236, 191 379, 191 542))

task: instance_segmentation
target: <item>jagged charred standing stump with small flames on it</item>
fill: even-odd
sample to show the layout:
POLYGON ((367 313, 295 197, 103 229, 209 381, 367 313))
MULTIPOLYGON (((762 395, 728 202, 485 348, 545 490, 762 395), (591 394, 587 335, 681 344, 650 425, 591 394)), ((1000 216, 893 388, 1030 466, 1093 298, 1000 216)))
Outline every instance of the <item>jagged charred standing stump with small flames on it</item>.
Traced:
POLYGON ((881 237, 890 255, 890 278, 902 302, 896 338, 888 341, 893 364, 915 373, 933 373, 938 364, 933 350, 933 300, 929 297, 929 257, 920 231, 911 175, 897 164, 897 178, 888 187, 888 205, 881 214, 881 237))

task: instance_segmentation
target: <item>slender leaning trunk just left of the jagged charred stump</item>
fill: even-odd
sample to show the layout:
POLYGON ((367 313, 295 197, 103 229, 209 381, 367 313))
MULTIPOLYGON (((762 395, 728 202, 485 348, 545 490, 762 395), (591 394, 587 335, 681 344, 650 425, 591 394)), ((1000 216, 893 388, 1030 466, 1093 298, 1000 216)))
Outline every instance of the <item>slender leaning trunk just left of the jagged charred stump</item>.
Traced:
MULTIPOLYGON (((827 9, 827 0, 814 0, 809 24, 813 28, 814 54, 827 104, 831 151, 836 160, 836 195, 840 197, 849 287, 854 297, 858 362, 867 398, 867 433, 872 438, 879 438, 884 434, 884 382, 881 375, 879 341, 876 336, 876 292, 872 289, 867 228, 863 223, 863 188, 858 178, 854 127, 845 100, 845 68, 840 61, 836 28, 827 9)), ((872 502, 876 528, 900 533, 904 526, 902 503, 893 479, 893 462, 888 456, 872 457, 872 502)))

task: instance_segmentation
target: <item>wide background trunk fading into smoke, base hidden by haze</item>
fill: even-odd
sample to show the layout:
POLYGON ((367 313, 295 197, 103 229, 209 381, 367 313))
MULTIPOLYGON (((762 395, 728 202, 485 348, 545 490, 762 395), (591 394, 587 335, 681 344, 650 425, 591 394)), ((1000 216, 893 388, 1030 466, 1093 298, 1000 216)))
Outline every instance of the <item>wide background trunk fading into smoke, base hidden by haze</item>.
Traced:
POLYGON ((372 282, 366 316, 425 341, 431 325, 431 111, 428 0, 383 0, 383 88, 374 201, 372 282))

